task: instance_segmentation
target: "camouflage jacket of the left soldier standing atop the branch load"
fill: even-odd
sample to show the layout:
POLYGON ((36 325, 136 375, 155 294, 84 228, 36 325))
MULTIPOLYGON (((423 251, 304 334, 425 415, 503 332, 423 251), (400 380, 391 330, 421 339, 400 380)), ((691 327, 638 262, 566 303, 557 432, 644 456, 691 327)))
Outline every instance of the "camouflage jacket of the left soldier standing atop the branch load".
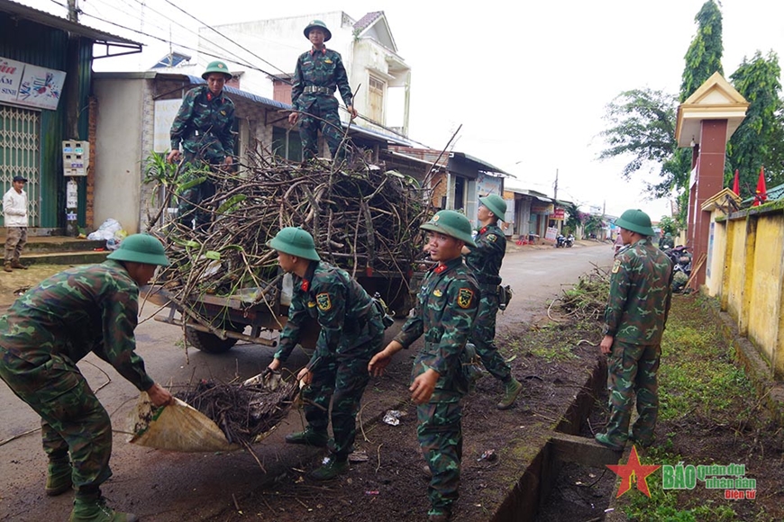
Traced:
POLYGON ((222 163, 234 153, 234 103, 206 85, 189 90, 171 124, 171 149, 179 147, 208 163, 222 163))

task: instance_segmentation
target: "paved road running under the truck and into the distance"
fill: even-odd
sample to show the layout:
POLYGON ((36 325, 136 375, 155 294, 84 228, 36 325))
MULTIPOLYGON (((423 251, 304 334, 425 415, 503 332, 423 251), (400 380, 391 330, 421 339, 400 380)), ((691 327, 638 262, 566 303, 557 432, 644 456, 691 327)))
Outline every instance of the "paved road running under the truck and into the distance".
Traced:
MULTIPOLYGON (((505 284, 511 284, 515 289, 515 297, 509 310, 499 315, 499 328, 513 322, 546 321, 547 303, 557 297, 565 285, 590 272, 592 264, 609 266, 612 260, 608 244, 586 242, 569 249, 524 248, 510 252, 504 261, 502 275, 505 284)), ((142 319, 154 312, 146 306, 142 319)), ((391 338, 400 326, 397 322, 387 330, 387 338, 391 338)), ((191 349, 186 358, 180 341, 181 332, 176 327, 144 320, 136 331, 139 353, 150 374, 160 383, 182 384, 200 378, 228 382, 235 375, 246 378, 260 373, 269 364, 274 350, 243 345, 232 348, 228 354, 210 356, 191 349)), ((297 367, 305 362, 305 356, 293 356, 289 366, 297 367)), ((397 363, 410 364, 406 357, 398 358, 397 363)), ((97 394, 114 423, 114 477, 105 483, 104 493, 111 505, 132 510, 142 520, 220 519, 218 514, 232 506, 232 496, 236 499, 246 497, 260 483, 278 476, 287 467, 312 465, 314 451, 282 443, 286 433, 302 426, 296 411, 290 413, 271 437, 254 447, 266 473, 245 452, 178 454, 127 444, 127 436, 122 431, 127 429, 125 419, 138 392, 94 356, 88 356, 79 367, 94 389, 102 386, 97 394)), ((407 371, 399 374, 407 375, 407 371)), ((390 397, 387 403, 374 401, 366 405, 365 419, 375 419, 397 401, 399 398, 390 397)), ((3 405, 0 441, 38 427, 35 413, 5 385, 0 385, 0 404, 3 405)), ((72 493, 53 499, 44 496, 45 472, 46 459, 41 451, 39 432, 22 435, 0 446, 0 476, 5 482, 0 489, 0 520, 39 522, 62 520, 68 516, 72 493)))

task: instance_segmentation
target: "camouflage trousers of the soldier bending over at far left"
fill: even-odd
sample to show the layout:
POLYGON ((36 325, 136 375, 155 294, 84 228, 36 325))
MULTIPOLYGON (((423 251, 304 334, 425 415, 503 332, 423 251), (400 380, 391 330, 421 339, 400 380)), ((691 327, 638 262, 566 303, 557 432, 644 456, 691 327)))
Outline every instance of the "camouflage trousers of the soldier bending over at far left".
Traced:
POLYGON ((111 477, 111 420, 77 366, 57 355, 33 365, 2 347, 0 357, 0 378, 41 416, 50 460, 70 453, 77 488, 97 487, 111 477))

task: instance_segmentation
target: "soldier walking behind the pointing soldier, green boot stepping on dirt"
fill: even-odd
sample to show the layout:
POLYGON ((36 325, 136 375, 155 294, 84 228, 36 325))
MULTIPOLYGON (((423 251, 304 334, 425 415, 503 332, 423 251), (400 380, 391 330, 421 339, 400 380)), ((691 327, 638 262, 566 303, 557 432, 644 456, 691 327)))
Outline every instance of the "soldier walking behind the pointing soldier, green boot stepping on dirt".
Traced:
POLYGON ((476 247, 463 247, 466 265, 473 271, 479 283, 479 311, 474 321, 471 341, 488 372, 504 383, 504 397, 496 405, 498 410, 508 410, 515 403, 523 384, 512 376, 512 369, 498 354, 496 347, 496 314, 498 313, 498 293, 500 288, 501 263, 506 255, 506 236, 498 227, 498 220, 506 214, 506 202, 497 194, 480 197, 479 228, 474 241, 476 247))

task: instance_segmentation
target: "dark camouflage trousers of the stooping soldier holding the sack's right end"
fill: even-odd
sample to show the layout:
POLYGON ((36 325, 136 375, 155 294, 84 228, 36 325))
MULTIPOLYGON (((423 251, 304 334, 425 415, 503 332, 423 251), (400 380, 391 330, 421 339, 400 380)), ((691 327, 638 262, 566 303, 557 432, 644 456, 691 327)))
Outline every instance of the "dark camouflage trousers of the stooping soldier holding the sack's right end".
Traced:
POLYGON ((343 457, 354 451, 357 413, 370 379, 368 363, 377 352, 378 349, 357 356, 333 356, 316 367, 310 385, 302 390, 305 419, 317 433, 327 432, 332 401, 334 455, 343 457))

